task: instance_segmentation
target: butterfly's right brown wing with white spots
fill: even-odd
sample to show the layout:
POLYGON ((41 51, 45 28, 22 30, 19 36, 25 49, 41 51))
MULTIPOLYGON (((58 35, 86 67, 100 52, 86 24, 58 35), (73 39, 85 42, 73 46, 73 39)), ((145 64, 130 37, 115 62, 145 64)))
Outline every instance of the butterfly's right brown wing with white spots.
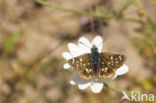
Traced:
POLYGON ((126 57, 121 54, 101 53, 101 62, 98 69, 99 78, 111 78, 116 69, 120 68, 126 57))

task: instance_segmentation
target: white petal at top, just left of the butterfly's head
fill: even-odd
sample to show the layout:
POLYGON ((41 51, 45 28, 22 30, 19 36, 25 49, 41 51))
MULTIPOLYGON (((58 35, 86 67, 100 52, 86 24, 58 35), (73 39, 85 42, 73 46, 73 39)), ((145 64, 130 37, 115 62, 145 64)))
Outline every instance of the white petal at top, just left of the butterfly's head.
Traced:
POLYGON ((83 53, 90 53, 91 44, 85 37, 81 37, 78 40, 78 45, 83 53))

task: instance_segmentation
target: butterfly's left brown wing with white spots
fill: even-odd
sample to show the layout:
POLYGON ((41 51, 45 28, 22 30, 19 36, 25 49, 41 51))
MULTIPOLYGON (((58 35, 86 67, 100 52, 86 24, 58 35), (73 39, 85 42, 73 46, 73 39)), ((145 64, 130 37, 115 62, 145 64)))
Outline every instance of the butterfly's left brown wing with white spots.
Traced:
POLYGON ((68 60, 68 64, 80 74, 81 78, 93 79, 95 77, 89 53, 68 60))

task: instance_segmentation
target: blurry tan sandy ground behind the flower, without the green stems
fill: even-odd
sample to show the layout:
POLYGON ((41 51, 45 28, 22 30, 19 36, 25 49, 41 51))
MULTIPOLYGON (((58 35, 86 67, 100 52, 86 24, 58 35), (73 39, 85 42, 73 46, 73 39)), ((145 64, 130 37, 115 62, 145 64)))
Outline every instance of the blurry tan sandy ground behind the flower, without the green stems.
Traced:
MULTIPOLYGON (((61 7, 88 10, 88 6, 104 8, 116 12, 123 4, 123 0, 48 0, 49 3, 61 7)), ((156 2, 153 0, 140 0, 143 10, 156 20, 156 2)), ((140 20, 137 8, 132 5, 124 12, 124 16, 140 20)), ((93 33, 83 32, 82 23, 88 22, 89 18, 73 13, 67 13, 51 9, 35 3, 34 0, 1 0, 0 1, 0 55, 4 45, 12 32, 20 28, 22 33, 12 51, 13 56, 4 62, 0 59, 0 103, 4 103, 12 90, 13 79, 22 75, 26 69, 31 69, 27 77, 16 84, 15 91, 11 94, 9 103, 117 103, 120 102, 121 94, 104 88, 101 93, 94 94, 90 89, 81 91, 77 86, 71 86, 69 80, 72 73, 63 70, 66 62, 62 52, 67 51, 67 43, 77 43, 78 38, 69 40, 81 33, 82 36, 93 38, 93 33), (62 42, 65 37, 68 41, 62 42), (46 50, 54 48, 47 54, 46 50), (33 67, 32 64, 41 55, 47 55, 33 67), (26 66, 25 66, 26 65, 26 66), (10 82, 11 81, 11 82, 10 82)), ((143 35, 135 29, 141 27, 139 23, 118 20, 104 20, 107 25, 101 26, 99 32, 106 38, 103 51, 121 53, 127 56, 126 64, 129 72, 111 81, 109 84, 116 88, 142 90, 142 81, 153 77, 152 70, 145 66, 148 62, 141 56, 132 39, 142 38, 143 35)), ((155 87, 154 87, 155 89, 155 87)), ((148 91, 148 90, 147 90, 148 91)), ((150 91, 153 92, 153 89, 150 91)))

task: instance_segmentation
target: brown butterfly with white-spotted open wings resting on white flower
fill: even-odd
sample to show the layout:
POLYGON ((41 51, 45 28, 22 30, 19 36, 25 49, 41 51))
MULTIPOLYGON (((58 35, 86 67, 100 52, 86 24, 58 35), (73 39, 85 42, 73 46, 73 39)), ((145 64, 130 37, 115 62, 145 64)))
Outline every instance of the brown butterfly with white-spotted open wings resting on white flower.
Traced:
POLYGON ((68 64, 83 79, 105 79, 113 77, 116 70, 123 65, 125 60, 126 57, 122 54, 99 53, 98 48, 93 45, 91 53, 69 59, 68 64))

